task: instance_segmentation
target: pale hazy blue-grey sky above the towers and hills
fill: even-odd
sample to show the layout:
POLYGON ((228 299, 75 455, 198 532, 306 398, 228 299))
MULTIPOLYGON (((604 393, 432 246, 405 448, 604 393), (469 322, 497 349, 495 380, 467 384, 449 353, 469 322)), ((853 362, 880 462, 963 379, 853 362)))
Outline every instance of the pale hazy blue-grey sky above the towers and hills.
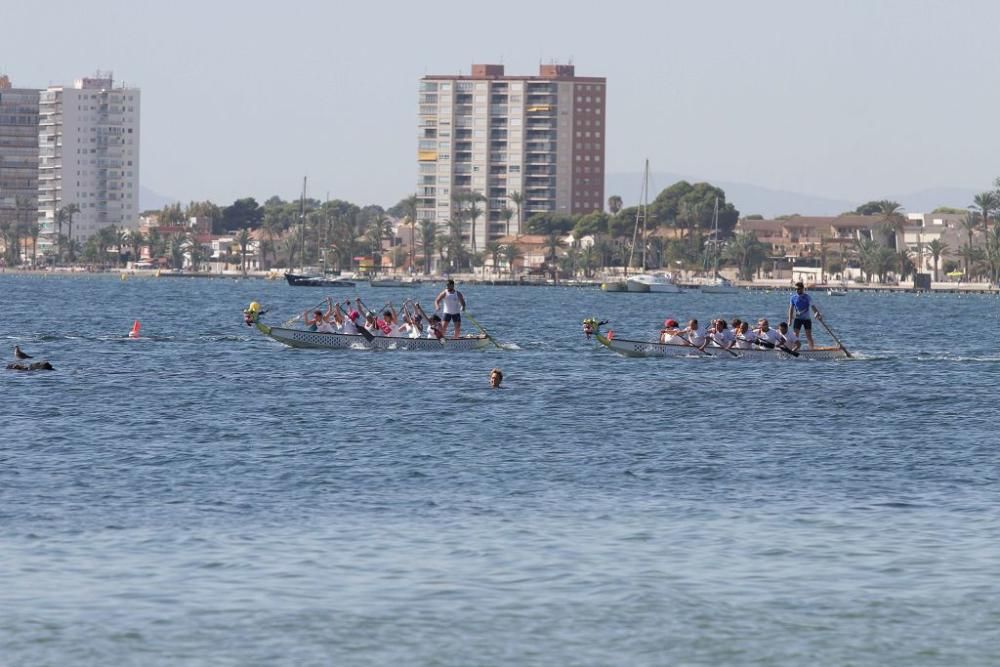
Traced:
POLYGON ((142 89, 142 184, 182 200, 415 189, 425 74, 572 59, 608 78, 607 168, 851 200, 1000 175, 991 0, 0 0, 0 72, 142 89))

